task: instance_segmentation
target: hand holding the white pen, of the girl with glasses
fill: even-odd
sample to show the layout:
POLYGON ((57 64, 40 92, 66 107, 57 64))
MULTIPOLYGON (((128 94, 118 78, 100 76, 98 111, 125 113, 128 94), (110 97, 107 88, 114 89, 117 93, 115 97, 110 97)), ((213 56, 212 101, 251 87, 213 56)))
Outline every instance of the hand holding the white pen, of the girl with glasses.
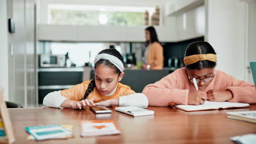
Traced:
POLYGON ((202 91, 190 92, 188 95, 188 105, 201 105, 207 100, 207 93, 202 91))

